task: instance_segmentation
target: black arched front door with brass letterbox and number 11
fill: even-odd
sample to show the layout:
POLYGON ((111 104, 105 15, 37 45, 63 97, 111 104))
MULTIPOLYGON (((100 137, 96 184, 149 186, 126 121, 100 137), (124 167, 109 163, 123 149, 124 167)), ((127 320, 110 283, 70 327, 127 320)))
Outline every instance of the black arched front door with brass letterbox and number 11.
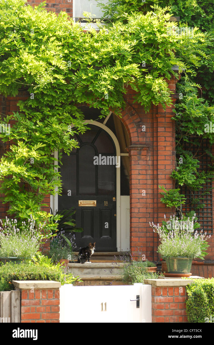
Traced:
POLYGON ((88 127, 91 129, 75 137, 80 148, 70 156, 63 153, 58 209, 76 210, 75 226, 83 228, 82 233, 75 233, 78 248, 96 242, 96 250, 116 251, 115 145, 102 128, 88 127))

